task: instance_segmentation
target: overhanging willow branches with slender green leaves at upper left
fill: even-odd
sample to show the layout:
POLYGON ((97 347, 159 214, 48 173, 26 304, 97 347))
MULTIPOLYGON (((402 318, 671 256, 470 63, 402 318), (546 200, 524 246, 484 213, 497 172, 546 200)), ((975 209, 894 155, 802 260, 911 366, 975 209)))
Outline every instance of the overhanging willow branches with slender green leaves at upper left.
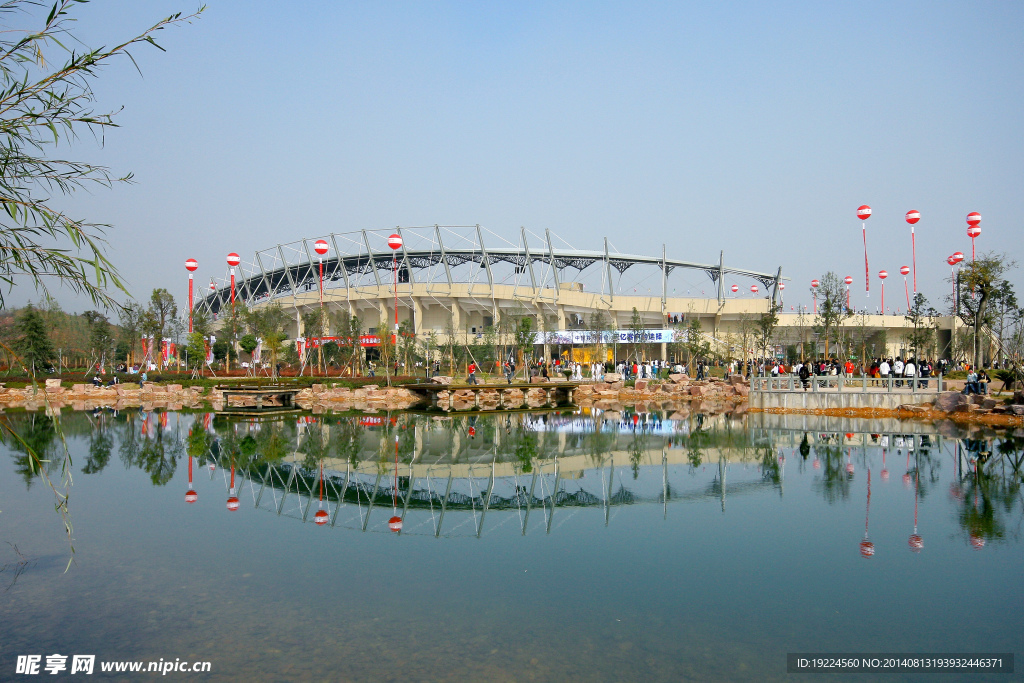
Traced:
MULTIPOLYGON (((193 16, 173 14, 142 34, 112 48, 81 49, 71 33, 70 9, 82 0, 56 0, 38 29, 12 27, 12 19, 37 20, 34 0, 0 3, 0 283, 13 287, 20 276, 40 291, 47 281, 88 296, 103 307, 116 306, 112 293, 126 292, 114 265, 103 254, 108 225, 73 218, 55 208, 53 198, 83 187, 128 182, 102 166, 54 158, 47 154, 77 140, 82 133, 102 139, 117 124, 115 113, 92 110, 91 82, 101 68, 129 49, 150 43, 154 34, 193 16), (59 56, 67 55, 65 60, 59 56), (74 249, 60 243, 68 242, 74 249)), ((202 11, 202 9, 200 9, 202 11)), ((198 14, 198 12, 197 12, 198 14)), ((161 48, 162 49, 162 48, 161 48)), ((3 296, 0 294, 0 306, 3 296)))

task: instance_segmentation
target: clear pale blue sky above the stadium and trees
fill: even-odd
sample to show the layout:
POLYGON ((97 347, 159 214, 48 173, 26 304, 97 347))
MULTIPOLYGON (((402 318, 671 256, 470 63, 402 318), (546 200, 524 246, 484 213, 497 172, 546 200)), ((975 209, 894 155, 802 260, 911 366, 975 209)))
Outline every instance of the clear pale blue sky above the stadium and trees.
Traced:
MULTIPOLYGON (((77 31, 112 44, 196 7, 95 0, 77 31)), ((781 265, 786 309, 830 269, 862 305, 861 204, 872 305, 878 270, 893 286, 910 261, 910 209, 933 304, 945 257, 970 256, 970 211, 979 251, 1024 263, 1024 3, 212 0, 159 40, 134 52, 141 76, 125 60, 96 82, 123 127, 69 153, 135 173, 68 206, 115 225, 140 299, 183 299, 188 257, 202 283, 229 251, 480 223, 696 261, 724 249, 781 265)))

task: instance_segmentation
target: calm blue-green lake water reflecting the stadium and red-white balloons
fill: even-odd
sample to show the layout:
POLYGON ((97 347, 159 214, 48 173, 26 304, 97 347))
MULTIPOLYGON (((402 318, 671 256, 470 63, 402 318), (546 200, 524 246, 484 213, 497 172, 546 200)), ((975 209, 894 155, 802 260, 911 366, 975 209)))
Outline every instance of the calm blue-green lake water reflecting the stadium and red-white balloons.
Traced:
MULTIPOLYGON (((65 414, 67 572, 8 434, 0 680, 52 653, 211 663, 167 675, 188 680, 771 681, 787 652, 1021 650, 1020 430, 674 417, 65 414)), ((53 421, 2 419, 59 480, 53 421)))

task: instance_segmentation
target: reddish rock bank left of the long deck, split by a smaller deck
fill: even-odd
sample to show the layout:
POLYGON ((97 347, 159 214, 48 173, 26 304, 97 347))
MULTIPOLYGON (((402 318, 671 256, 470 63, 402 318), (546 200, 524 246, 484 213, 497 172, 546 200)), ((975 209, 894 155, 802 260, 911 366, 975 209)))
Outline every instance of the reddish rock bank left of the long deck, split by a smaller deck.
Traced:
MULTIPOLYGON (((295 395, 297 405, 313 413, 323 413, 327 410, 365 412, 402 410, 418 401, 419 397, 408 389, 380 388, 372 384, 358 389, 314 384, 295 395)), ((144 382, 141 387, 137 384, 98 387, 92 384, 73 384, 71 387, 63 387, 60 385, 60 380, 46 380, 44 386, 24 389, 8 388, 0 384, 0 410, 59 411, 71 408, 76 411, 86 411, 96 408, 117 410, 141 408, 147 411, 154 409, 178 411, 183 408, 202 409, 207 404, 216 411, 223 410, 223 395, 209 388, 153 382, 144 382)), ((231 396, 229 404, 231 408, 253 407, 255 398, 231 396)))

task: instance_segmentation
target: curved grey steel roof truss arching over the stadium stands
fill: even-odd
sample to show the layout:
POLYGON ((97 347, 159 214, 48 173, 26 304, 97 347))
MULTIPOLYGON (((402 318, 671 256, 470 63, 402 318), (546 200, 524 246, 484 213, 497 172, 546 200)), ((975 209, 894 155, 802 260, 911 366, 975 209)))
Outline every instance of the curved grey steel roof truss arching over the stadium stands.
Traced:
MULTIPOLYGON (((716 286, 720 301, 727 296, 727 279, 758 282, 773 299, 782 280, 781 268, 770 273, 727 267, 722 255, 718 263, 670 259, 664 245, 660 256, 643 256, 614 251, 607 239, 603 251, 583 251, 550 230, 538 236, 520 228, 518 240, 513 241, 479 225, 431 225, 330 233, 257 251, 250 261, 243 257, 236 296, 252 306, 315 292, 321 266, 325 290, 335 295, 380 291, 391 287, 393 265, 402 287, 425 284, 441 292, 469 284, 489 287, 494 294, 496 286, 511 285, 524 298, 536 298, 544 291, 557 294, 560 285, 569 281, 580 283, 582 291, 583 283, 590 281, 588 291, 609 298, 631 289, 637 292, 639 285, 647 292, 659 289, 663 304, 670 296, 670 279, 684 271, 702 271, 716 286), (397 252, 387 245, 387 237, 395 232, 403 241, 397 252), (323 259, 313 250, 317 240, 329 245, 323 259), (624 281, 628 271, 636 272, 631 282, 624 281)), ((692 281, 679 285, 698 287, 692 281)), ((222 276, 211 281, 211 290, 197 305, 216 315, 229 299, 228 279, 222 276)))

